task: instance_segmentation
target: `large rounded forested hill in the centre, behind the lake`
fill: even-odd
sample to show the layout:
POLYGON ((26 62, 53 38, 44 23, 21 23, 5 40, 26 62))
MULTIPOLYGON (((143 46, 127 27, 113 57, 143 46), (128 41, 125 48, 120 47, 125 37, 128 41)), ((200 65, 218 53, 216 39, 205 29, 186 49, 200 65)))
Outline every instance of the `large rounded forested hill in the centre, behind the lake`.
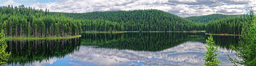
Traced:
MULTIPOLYGON (((52 12, 58 14, 60 12, 52 12)), ((82 20, 82 31, 192 31, 204 24, 192 22, 161 10, 130 10, 63 13, 82 20)))

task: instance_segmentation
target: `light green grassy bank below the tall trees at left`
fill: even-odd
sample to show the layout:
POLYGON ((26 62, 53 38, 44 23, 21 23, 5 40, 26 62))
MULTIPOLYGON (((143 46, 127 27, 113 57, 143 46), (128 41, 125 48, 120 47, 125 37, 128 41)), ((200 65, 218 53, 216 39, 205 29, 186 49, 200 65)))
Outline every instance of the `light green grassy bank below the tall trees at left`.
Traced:
POLYGON ((64 38, 78 38, 81 37, 81 35, 77 36, 70 36, 70 37, 56 37, 56 38, 3 38, 6 40, 38 40, 38 39, 64 39, 64 38))

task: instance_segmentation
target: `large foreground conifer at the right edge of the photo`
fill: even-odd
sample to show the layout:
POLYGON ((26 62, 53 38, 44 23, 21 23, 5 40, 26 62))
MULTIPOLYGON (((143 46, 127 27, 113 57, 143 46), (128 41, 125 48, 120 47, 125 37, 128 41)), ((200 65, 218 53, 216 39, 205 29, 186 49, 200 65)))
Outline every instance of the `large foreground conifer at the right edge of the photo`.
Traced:
POLYGON ((236 56, 242 60, 232 58, 229 60, 235 65, 256 66, 256 16, 254 16, 252 8, 248 22, 242 28, 242 37, 238 47, 232 46, 232 49, 237 52, 236 56))

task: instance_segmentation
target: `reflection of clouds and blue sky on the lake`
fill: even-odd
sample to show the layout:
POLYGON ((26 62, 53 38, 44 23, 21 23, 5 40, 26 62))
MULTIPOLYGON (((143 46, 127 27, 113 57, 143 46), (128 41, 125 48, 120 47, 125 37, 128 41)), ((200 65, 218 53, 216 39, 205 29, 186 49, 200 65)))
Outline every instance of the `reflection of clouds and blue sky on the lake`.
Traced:
MULTIPOLYGON (((203 66, 205 46, 206 44, 200 42, 185 42, 159 52, 81 46, 78 52, 68 54, 64 58, 52 58, 25 66, 203 66)), ((222 57, 218 58, 221 60, 220 65, 232 66, 233 64, 228 60, 226 54, 235 55, 226 49, 218 49, 219 55, 217 57, 222 57)))

